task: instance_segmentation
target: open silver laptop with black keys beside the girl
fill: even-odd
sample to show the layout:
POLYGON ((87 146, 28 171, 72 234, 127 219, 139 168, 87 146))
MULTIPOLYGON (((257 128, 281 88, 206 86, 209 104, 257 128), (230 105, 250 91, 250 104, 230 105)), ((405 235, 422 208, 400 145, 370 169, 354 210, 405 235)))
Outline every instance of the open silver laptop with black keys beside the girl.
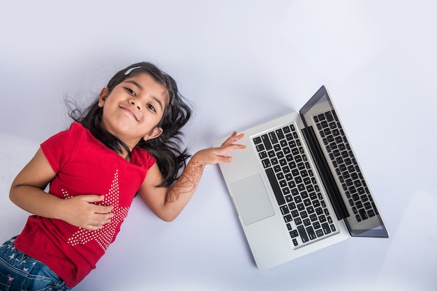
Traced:
POLYGON ((350 236, 389 237, 325 86, 299 113, 243 133, 246 149, 219 167, 259 269, 350 236))

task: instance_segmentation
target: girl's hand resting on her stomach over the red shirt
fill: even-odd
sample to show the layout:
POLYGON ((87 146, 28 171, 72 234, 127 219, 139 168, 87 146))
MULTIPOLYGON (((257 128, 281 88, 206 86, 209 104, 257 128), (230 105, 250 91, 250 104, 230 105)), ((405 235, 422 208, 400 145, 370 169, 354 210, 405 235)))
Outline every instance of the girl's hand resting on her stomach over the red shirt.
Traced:
POLYGON ((103 200, 100 195, 81 195, 63 200, 62 220, 85 228, 87 230, 98 230, 105 223, 109 223, 114 214, 111 212, 114 207, 111 205, 97 205, 96 202, 103 200))

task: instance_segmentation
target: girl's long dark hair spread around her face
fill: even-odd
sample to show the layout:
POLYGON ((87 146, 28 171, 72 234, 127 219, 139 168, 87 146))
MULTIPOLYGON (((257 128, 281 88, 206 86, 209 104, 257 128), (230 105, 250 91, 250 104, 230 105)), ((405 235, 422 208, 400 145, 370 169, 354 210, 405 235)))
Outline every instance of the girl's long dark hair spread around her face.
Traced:
MULTIPOLYGON (((179 170, 186 165, 186 159, 190 157, 187 149, 181 149, 182 143, 181 128, 191 117, 191 107, 188 101, 179 93, 175 79, 170 75, 159 70, 152 63, 135 63, 127 68, 120 70, 108 82, 108 93, 122 81, 135 74, 146 73, 155 79, 159 84, 165 86, 168 91, 170 104, 165 106, 163 118, 158 127, 163 129, 163 133, 155 139, 141 141, 136 147, 144 148, 156 158, 156 164, 163 175, 163 182, 160 187, 169 187, 179 176, 179 170)), ((128 146, 110 132, 106 131, 101 125, 103 108, 98 107, 98 99, 84 111, 77 108, 70 108, 68 115, 83 127, 90 130, 105 146, 117 153, 122 152, 122 148, 130 152, 128 146)))

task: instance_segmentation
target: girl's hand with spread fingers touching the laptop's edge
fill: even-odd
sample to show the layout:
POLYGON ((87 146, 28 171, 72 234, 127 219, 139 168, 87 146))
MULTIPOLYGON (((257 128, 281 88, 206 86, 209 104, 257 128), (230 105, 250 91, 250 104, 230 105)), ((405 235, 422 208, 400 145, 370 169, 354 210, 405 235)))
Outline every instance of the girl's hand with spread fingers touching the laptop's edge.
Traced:
POLYGON ((206 148, 205 150, 200 150, 193 155, 191 160, 193 162, 198 162, 200 164, 218 164, 218 163, 228 163, 232 161, 232 158, 227 156, 228 152, 231 150, 239 150, 246 148, 244 145, 239 145, 235 143, 242 139, 244 134, 238 134, 237 132, 232 132, 232 134, 226 139, 220 146, 220 148, 206 148))

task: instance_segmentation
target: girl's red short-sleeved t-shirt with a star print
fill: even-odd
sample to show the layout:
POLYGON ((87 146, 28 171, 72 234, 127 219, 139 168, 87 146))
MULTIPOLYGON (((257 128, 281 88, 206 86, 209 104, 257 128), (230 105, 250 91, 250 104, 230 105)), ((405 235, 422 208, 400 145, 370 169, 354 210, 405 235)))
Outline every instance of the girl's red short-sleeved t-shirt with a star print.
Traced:
POLYGON ((47 139, 41 149, 57 173, 50 194, 64 199, 103 194, 105 199, 98 204, 114 206, 111 222, 99 230, 33 215, 15 240, 17 249, 44 262, 73 288, 114 242, 135 193, 156 160, 146 150, 135 148, 127 162, 80 123, 47 139))

